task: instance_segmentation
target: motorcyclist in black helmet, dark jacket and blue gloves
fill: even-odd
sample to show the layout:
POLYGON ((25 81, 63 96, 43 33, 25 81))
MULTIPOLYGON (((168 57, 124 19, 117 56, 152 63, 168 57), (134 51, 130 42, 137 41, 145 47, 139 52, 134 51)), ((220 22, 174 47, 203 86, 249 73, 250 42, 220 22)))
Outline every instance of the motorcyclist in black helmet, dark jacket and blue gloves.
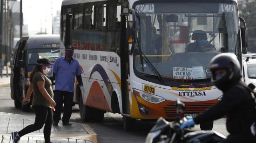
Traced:
POLYGON ((222 100, 202 114, 188 118, 181 130, 194 124, 227 117, 226 127, 230 135, 221 143, 256 143, 255 99, 241 81, 241 67, 234 54, 221 53, 210 62, 212 82, 223 92, 222 100))

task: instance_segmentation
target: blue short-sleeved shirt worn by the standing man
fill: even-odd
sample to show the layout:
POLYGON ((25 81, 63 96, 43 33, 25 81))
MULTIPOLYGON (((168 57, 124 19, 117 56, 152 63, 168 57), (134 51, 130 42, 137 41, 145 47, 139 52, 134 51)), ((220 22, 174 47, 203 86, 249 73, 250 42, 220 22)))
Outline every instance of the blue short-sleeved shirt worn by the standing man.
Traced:
POLYGON ((65 57, 57 58, 53 72, 55 73, 55 90, 74 92, 75 76, 83 72, 78 61, 72 58, 70 64, 65 57))

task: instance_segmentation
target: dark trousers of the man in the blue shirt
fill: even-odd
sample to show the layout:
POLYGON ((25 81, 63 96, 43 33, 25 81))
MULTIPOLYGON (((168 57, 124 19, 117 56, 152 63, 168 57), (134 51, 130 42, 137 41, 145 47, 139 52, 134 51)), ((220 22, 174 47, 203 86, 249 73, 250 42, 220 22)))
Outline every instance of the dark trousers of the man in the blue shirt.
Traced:
POLYGON ((68 123, 72 114, 72 106, 73 106, 73 92, 67 91, 54 91, 54 101, 56 103, 55 111, 54 111, 54 122, 59 122, 61 120, 61 109, 62 104, 64 103, 63 117, 62 123, 68 123))

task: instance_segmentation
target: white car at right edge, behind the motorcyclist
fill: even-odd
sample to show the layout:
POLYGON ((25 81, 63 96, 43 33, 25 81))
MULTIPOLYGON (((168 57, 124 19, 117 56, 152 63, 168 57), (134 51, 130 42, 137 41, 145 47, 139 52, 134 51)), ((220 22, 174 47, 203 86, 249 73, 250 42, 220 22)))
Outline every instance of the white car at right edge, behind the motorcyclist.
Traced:
POLYGON ((256 55, 247 56, 243 60, 243 81, 248 85, 256 85, 256 55))

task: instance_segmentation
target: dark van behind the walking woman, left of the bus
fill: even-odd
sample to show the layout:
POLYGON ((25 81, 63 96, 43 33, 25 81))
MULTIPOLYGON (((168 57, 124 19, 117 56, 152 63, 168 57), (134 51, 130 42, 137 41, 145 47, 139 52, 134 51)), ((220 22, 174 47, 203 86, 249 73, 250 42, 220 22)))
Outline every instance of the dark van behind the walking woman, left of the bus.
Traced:
MULTIPOLYGON (((16 108, 29 111, 31 102, 22 104, 30 81, 29 76, 38 58, 48 58, 52 63, 60 56, 59 35, 24 36, 16 44, 11 71, 11 98, 16 108)), ((33 94, 33 93, 32 93, 33 94)), ((33 96, 31 96, 32 101, 33 96)))

